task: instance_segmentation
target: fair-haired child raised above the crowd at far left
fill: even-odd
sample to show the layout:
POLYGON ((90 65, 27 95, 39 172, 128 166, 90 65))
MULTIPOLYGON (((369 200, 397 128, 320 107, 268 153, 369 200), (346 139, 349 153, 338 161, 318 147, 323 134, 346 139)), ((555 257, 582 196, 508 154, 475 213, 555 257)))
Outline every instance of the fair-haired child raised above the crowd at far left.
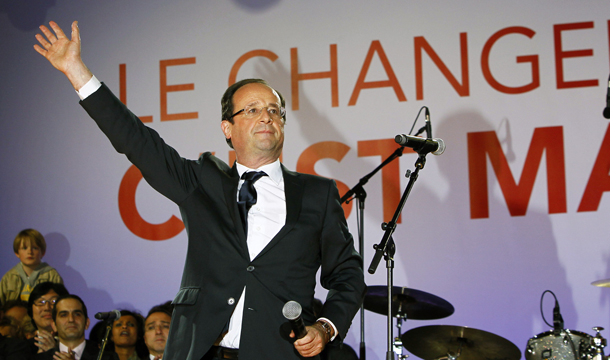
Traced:
POLYGON ((49 264, 42 262, 47 251, 44 236, 38 230, 25 229, 13 241, 13 251, 19 263, 0 280, 0 302, 28 301, 32 289, 43 282, 63 284, 63 279, 49 264))

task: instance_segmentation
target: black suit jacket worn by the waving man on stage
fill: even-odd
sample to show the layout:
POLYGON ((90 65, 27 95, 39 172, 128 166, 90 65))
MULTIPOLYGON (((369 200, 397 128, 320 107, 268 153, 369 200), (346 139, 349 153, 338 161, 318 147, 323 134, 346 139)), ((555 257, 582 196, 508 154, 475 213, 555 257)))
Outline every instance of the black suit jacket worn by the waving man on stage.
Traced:
POLYGON ((209 152, 196 161, 180 157, 105 85, 81 105, 147 182, 180 207, 189 243, 166 360, 199 360, 227 324, 244 286, 240 359, 298 358, 281 329, 282 307, 295 300, 303 306, 305 323, 315 321, 320 267, 321 284, 329 289, 321 316, 345 335, 365 285, 333 180, 282 166, 286 224, 250 259, 237 209, 235 167, 209 152))

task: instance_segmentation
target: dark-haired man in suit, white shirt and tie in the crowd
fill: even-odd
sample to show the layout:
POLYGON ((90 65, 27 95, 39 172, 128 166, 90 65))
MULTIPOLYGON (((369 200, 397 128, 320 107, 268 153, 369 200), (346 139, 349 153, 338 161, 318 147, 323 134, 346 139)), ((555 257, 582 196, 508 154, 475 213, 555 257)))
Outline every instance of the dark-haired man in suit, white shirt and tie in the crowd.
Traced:
MULTIPOLYGON (((53 308, 53 330, 57 333, 57 347, 36 354, 36 360, 95 360, 99 348, 85 340, 89 328, 87 306, 76 295, 64 295, 53 308)), ((104 360, 117 360, 116 354, 104 353, 104 360)))

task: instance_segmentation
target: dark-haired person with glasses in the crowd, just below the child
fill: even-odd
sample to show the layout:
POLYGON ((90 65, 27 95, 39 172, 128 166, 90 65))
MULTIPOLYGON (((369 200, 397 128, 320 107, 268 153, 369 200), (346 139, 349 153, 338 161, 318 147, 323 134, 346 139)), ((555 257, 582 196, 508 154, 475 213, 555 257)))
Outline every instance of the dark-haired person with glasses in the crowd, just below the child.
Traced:
POLYGON ((68 295, 63 284, 44 282, 36 285, 28 300, 28 315, 36 327, 36 336, 30 339, 33 352, 44 352, 56 346, 53 330, 53 305, 60 296, 68 295))

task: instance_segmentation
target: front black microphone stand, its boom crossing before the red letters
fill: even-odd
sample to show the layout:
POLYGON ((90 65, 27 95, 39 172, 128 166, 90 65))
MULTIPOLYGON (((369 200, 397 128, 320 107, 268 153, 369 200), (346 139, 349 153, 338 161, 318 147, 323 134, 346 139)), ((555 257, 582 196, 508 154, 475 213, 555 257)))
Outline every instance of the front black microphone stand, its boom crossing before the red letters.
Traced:
POLYGON ((426 164, 426 155, 419 154, 417 157, 417 161, 415 162, 415 171, 411 172, 411 170, 407 170, 405 174, 406 177, 409 178, 409 183, 407 184, 407 188, 403 193, 400 203, 394 212, 394 216, 389 223, 383 223, 382 229, 385 230, 383 238, 381 242, 377 245, 373 245, 375 249, 375 256, 373 257, 373 261, 371 261, 371 265, 369 266, 369 274, 374 274, 377 271, 377 266, 379 266, 379 262, 381 261, 381 257, 383 256, 386 260, 386 268, 387 277, 388 277, 388 347, 386 351, 386 360, 394 360, 393 355, 393 344, 392 340, 394 336, 392 335, 392 288, 394 286, 394 253, 396 250, 396 246, 394 243, 394 239, 392 238, 392 234, 396 230, 396 223, 398 221, 398 217, 402 213, 402 209, 407 202, 407 198, 411 193, 411 189, 417 181, 417 177, 419 174, 419 170, 424 168, 426 164))

